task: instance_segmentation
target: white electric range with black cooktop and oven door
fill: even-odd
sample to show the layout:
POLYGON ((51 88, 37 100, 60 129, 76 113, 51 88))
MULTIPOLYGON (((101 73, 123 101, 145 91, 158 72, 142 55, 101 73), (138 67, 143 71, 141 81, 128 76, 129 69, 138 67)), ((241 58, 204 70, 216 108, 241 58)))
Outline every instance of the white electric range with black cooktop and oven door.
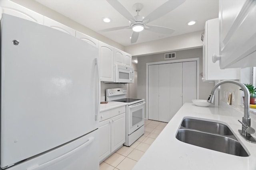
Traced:
POLYGON ((126 105, 126 141, 124 145, 130 147, 144 134, 144 99, 126 98, 125 88, 112 88, 106 90, 106 100, 125 102, 126 105))

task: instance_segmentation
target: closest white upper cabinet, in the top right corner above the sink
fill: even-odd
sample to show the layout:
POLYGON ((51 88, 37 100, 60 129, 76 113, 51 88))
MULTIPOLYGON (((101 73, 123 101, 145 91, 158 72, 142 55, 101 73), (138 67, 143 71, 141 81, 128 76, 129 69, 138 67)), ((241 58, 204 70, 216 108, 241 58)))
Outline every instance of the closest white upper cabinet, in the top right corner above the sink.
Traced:
POLYGON ((220 68, 256 66, 256 0, 219 0, 220 68))

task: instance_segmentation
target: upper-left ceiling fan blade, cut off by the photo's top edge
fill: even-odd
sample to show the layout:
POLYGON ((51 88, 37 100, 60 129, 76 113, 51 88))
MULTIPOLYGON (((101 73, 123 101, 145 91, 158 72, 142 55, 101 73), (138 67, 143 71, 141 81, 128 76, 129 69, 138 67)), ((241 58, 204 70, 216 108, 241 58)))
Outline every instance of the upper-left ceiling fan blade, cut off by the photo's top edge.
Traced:
POLYGON ((130 14, 130 12, 128 10, 126 10, 126 8, 124 8, 124 6, 122 6, 122 4, 120 2, 118 2, 117 0, 106 0, 106 1, 113 8, 115 8, 115 10, 117 10, 122 16, 124 16, 127 20, 131 21, 132 23, 134 23, 134 21, 136 21, 134 16, 132 16, 132 14, 130 14))

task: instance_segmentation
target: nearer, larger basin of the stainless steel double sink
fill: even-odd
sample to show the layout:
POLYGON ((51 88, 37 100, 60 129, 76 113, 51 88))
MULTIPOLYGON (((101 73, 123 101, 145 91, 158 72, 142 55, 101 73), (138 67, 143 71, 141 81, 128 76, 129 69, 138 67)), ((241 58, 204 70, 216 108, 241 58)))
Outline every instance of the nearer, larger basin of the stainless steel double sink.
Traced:
POLYGON ((236 156, 249 156, 238 141, 229 137, 193 131, 190 129, 179 129, 176 138, 184 143, 189 143, 206 149, 236 156))

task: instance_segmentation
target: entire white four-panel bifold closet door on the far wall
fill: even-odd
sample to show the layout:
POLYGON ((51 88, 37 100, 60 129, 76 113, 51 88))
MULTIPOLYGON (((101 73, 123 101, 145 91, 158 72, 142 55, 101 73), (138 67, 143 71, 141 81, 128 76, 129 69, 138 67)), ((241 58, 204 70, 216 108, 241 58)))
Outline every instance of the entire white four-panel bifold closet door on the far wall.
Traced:
POLYGON ((196 61, 148 66, 148 119, 169 122, 196 99, 196 61))

